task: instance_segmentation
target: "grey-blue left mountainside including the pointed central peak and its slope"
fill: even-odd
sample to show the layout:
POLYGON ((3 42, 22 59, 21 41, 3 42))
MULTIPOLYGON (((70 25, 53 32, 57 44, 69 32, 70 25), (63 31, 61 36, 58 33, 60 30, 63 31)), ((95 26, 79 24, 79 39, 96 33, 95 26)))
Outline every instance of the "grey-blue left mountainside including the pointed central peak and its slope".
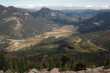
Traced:
POLYGON ((34 36, 58 28, 60 24, 72 25, 75 22, 63 12, 48 8, 31 12, 12 6, 0 6, 0 12, 0 32, 15 39, 34 36))

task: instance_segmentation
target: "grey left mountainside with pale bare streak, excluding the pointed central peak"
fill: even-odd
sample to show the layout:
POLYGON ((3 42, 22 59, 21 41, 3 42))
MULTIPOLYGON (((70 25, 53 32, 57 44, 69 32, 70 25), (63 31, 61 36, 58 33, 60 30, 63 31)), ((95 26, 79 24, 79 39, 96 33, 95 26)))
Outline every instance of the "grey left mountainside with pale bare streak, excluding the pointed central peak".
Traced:
POLYGON ((46 32, 53 27, 52 21, 47 19, 34 18, 30 12, 15 7, 0 7, 0 32, 15 37, 24 37, 34 33, 46 32), (7 32, 8 31, 8 32, 7 32))

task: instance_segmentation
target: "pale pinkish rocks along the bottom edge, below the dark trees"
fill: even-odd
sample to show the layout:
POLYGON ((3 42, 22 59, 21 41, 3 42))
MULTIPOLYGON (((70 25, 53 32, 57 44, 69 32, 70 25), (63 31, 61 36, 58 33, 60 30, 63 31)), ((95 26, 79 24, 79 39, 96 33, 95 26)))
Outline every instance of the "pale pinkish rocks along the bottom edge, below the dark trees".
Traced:
MULTIPOLYGON (((11 70, 8 70, 6 72, 0 71, 0 73, 12 73, 12 71, 11 70)), ((24 72, 24 73, 110 73, 110 69, 103 69, 103 67, 87 68, 87 70, 81 70, 81 71, 59 71, 58 68, 54 68, 50 71, 46 69, 42 69, 42 70, 30 69, 28 72, 24 72)))

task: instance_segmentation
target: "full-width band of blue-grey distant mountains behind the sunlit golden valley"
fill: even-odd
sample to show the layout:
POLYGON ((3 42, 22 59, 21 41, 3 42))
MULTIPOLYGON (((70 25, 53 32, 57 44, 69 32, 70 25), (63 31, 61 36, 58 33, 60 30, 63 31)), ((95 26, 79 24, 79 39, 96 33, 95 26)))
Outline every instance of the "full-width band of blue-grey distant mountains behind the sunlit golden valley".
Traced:
POLYGON ((52 10, 38 11, 0 5, 0 32, 11 38, 25 38, 73 25, 78 32, 87 33, 110 29, 110 10, 52 10))

